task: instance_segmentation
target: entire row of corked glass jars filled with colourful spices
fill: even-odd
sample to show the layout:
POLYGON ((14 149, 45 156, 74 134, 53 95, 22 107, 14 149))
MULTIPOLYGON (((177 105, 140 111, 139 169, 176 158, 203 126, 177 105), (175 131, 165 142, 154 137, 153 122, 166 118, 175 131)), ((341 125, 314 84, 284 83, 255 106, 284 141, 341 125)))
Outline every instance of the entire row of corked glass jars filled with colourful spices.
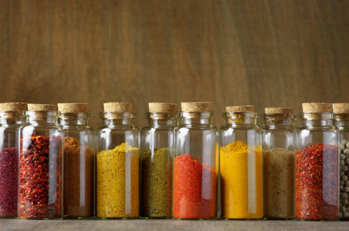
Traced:
POLYGON ((227 107, 219 131, 210 103, 181 106, 150 103, 140 132, 131 104, 106 103, 94 133, 87 104, 0 104, 0 217, 349 216, 348 104, 333 105, 340 133, 332 104, 303 104, 298 129, 292 109, 266 108, 260 128, 254 106, 227 107))

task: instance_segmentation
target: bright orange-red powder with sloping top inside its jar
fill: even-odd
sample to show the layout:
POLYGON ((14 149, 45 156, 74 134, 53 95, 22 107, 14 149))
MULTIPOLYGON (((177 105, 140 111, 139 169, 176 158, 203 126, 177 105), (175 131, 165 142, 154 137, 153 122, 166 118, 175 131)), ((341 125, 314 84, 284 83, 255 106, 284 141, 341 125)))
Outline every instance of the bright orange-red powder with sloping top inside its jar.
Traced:
POLYGON ((217 173, 188 154, 174 158, 174 218, 216 217, 217 173))

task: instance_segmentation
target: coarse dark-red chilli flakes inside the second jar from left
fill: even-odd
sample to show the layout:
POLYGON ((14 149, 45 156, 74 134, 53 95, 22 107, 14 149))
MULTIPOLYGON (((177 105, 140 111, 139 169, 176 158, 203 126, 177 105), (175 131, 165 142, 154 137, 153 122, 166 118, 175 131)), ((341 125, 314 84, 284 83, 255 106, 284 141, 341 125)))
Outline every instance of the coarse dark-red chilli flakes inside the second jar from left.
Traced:
POLYGON ((62 138, 21 137, 19 218, 62 217, 62 138))

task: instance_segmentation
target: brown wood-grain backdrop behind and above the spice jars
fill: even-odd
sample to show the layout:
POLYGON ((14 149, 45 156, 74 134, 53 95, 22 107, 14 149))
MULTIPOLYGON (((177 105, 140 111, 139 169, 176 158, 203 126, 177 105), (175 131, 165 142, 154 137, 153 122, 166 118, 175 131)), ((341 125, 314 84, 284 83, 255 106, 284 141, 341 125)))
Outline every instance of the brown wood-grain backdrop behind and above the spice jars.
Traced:
POLYGON ((0 101, 349 102, 349 0, 0 0, 0 101))

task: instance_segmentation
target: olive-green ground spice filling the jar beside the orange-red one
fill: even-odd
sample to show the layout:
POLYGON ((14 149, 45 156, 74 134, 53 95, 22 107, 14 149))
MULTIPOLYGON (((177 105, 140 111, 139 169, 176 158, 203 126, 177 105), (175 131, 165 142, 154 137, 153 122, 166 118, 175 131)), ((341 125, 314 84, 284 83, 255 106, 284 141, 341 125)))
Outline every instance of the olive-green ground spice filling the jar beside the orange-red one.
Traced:
POLYGON ((154 148, 142 158, 142 216, 172 216, 172 151, 154 148))

